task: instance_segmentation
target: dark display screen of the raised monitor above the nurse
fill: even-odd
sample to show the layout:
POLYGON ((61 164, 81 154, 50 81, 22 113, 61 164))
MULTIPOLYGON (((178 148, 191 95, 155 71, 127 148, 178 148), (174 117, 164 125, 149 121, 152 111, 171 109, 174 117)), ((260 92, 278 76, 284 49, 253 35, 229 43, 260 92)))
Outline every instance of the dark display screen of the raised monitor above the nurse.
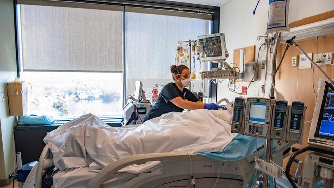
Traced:
POLYGON ((220 36, 210 37, 206 39, 199 39, 200 44, 203 45, 203 57, 219 57, 222 56, 221 39, 220 36))

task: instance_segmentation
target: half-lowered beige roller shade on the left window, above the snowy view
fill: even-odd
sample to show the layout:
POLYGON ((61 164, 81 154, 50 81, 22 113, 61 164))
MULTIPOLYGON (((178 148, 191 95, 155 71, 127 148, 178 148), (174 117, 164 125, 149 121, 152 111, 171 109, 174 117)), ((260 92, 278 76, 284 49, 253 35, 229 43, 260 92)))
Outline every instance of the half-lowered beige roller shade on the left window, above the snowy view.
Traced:
POLYGON ((109 5, 101 10, 96 4, 74 3, 73 8, 66 4, 73 2, 38 2, 18 1, 26 3, 19 17, 24 71, 122 72, 122 11, 109 5))

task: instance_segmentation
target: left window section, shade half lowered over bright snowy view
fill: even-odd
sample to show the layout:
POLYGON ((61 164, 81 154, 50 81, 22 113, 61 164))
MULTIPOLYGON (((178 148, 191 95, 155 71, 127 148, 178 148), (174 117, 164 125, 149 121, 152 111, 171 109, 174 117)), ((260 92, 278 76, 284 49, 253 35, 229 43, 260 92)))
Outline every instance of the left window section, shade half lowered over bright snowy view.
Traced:
POLYGON ((19 11, 29 113, 121 115, 123 12, 40 5, 19 11))

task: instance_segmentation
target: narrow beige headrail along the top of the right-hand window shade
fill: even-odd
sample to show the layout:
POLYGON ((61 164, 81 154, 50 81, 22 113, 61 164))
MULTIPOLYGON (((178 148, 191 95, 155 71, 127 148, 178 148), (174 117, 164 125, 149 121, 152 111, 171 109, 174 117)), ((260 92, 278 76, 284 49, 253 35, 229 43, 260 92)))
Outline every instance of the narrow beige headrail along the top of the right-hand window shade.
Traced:
POLYGON ((212 18, 212 15, 209 13, 191 13, 191 12, 183 12, 183 11, 139 8, 139 7, 125 7, 125 12, 167 15, 167 16, 177 16, 177 17, 189 17, 189 18, 197 18, 197 19, 202 19, 202 20, 211 20, 212 18))

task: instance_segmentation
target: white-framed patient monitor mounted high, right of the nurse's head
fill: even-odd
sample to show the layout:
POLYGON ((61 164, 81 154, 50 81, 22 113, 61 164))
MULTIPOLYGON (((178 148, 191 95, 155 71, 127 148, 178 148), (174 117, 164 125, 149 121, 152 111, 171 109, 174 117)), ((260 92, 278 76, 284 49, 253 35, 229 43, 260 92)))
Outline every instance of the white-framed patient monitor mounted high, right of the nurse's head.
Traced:
POLYGON ((202 48, 202 61, 219 61, 229 57, 224 33, 198 36, 197 41, 202 48))

